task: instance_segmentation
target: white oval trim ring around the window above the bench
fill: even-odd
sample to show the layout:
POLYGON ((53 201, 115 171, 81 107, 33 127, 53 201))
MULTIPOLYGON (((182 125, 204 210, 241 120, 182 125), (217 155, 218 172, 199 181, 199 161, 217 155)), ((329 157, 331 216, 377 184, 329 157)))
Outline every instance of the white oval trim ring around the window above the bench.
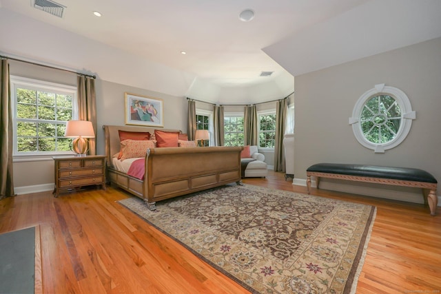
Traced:
POLYGON ((411 102, 402 90, 396 87, 385 86, 384 84, 375 85, 371 90, 362 94, 356 105, 353 107, 352 117, 349 118, 349 125, 352 125, 352 131, 358 143, 368 149, 372 149, 375 153, 384 153, 387 149, 396 147, 402 143, 411 130, 412 120, 416 118, 416 112, 412 110, 411 102), (373 143, 365 137, 360 124, 360 116, 367 101, 373 96, 388 95, 395 99, 401 111, 401 122, 398 132, 392 140, 386 143, 373 143))

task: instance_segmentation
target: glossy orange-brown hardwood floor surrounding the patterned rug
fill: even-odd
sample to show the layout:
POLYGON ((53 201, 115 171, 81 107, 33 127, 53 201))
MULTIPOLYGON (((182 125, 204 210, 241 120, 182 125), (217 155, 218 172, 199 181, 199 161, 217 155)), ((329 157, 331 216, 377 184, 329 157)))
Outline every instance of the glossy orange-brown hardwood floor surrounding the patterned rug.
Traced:
MULTIPOLYGON (((243 182, 306 193, 273 171, 243 182)), ((422 204, 311 193, 377 207, 357 293, 441 293, 440 207, 433 217, 422 204)), ((108 187, 6 198, 0 233, 39 225, 43 293, 247 293, 116 203, 127 197, 108 187)))

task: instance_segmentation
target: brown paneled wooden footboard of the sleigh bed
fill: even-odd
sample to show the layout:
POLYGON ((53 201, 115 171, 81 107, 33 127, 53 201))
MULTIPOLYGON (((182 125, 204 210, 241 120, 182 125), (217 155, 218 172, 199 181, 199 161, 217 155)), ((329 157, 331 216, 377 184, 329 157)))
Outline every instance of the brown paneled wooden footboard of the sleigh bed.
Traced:
POLYGON ((155 202, 240 182, 242 147, 154 148, 147 151, 143 199, 155 202))

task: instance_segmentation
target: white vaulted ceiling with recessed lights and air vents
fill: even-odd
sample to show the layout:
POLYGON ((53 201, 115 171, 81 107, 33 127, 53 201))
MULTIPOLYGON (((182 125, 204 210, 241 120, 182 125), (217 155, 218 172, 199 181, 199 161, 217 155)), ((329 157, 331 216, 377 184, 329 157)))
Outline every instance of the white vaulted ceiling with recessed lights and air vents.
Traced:
MULTIPOLYGON (((274 93, 271 94, 271 90, 263 90, 262 85, 266 84, 278 88, 276 98, 283 98, 280 96, 290 94, 289 92, 294 89, 293 76, 296 74, 441 36, 441 28, 438 27, 441 25, 438 21, 435 23, 435 28, 432 28, 433 32, 421 36, 421 30, 408 30, 400 36, 400 42, 395 42, 391 46, 382 46, 380 49, 363 51, 362 48, 356 48, 357 46, 354 48, 354 42, 351 42, 351 39, 357 39, 357 37, 369 40, 369 36, 382 34, 379 31, 381 26, 378 25, 365 25, 363 30, 358 31, 360 19, 354 18, 362 16, 366 18, 365 22, 381 25, 383 22, 388 22, 388 19, 383 18, 388 15, 394 19, 402 18, 401 15, 394 15, 394 11, 388 10, 391 6, 398 7, 404 3, 404 6, 410 5, 410 11, 407 9, 406 13, 412 13, 413 6, 430 4, 436 8, 431 13, 438 15, 440 19, 439 3, 441 1, 439 0, 56 1, 67 7, 63 18, 54 17, 33 8, 34 0, 0 0, 0 8, 3 12, 11 12, 9 23, 17 19, 12 16, 12 13, 19 14, 32 21, 50 25, 51 28, 68 31, 66 38, 72 39, 74 35, 81 36, 90 40, 91 47, 97 48, 96 43, 100 43, 106 45, 107 48, 119 50, 122 54, 130 56, 127 58, 131 61, 138 60, 140 65, 149 61, 183 72, 185 73, 183 76, 190 80, 188 83, 185 82, 187 86, 198 86, 198 90, 193 91, 196 96, 204 90, 216 89, 218 95, 234 97, 232 89, 245 87, 253 89, 252 96, 256 97, 263 93, 266 97, 273 98, 274 93), (388 8, 386 12, 382 9, 384 4, 388 8), (256 14, 254 19, 249 22, 240 21, 238 15, 247 8, 254 10, 256 14), (363 10, 370 14, 372 11, 374 13, 362 15, 360 11, 363 10), (92 14, 93 11, 101 12, 102 17, 95 17, 92 14), (380 12, 381 18, 376 17, 376 11, 380 12), (345 19, 353 23, 347 23, 345 19), (355 36, 358 32, 362 36, 355 36), (336 35, 338 38, 335 38, 336 35), (308 36, 314 36, 314 39, 308 36), (346 44, 344 47, 349 48, 350 52, 339 50, 340 47, 334 46, 331 43, 332 40, 329 40, 330 36, 333 36, 334 42, 338 41, 340 47, 346 44), (320 40, 326 42, 320 43, 320 40), (329 46, 331 50, 329 50, 330 53, 323 55, 322 52, 326 52, 323 47, 326 49, 326 46, 329 46), (360 54, 357 50, 360 50, 360 54), (187 54, 183 55, 181 51, 187 54), (314 55, 311 56, 309 52, 314 52, 314 55), (324 61, 324 59, 329 60, 324 61), (259 74, 262 71, 272 71, 274 74, 269 77, 260 77, 259 74)), ((430 6, 427 6, 429 12, 433 10, 430 6)), ((398 11, 401 10, 398 9, 398 11)), ((415 21, 413 27, 416 28, 424 22, 418 15, 413 19, 415 21)), ((29 22, 28 26, 38 26, 41 34, 50 29, 50 27, 40 27, 37 24, 29 22)), ((427 31, 427 28, 431 28, 430 23, 429 25, 426 23, 422 30, 427 31)), ((32 29, 27 31, 29 30, 32 29)), ((46 39, 48 39, 47 36, 46 39)), ((393 40, 393 36, 383 38, 383 42, 387 42, 388 39, 393 40)), ((369 42, 365 47, 369 49, 369 42)), ((0 45, 0 50, 2 49, 6 50, 6 53, 23 55, 23 52, 17 50, 8 52, 11 49, 6 45, 4 48, 0 45)), ((104 54, 104 50, 102 52, 104 54)), ((24 55, 38 58, 29 53, 24 55)), ((45 56, 43 60, 55 64, 60 62, 55 57, 54 60, 50 60, 48 56, 45 56)), ((68 63, 68 61, 64 62, 68 63)), ((72 64, 74 60, 69 65, 72 66, 72 64)), ((92 68, 99 71, 97 67, 98 65, 94 65, 92 68)), ((124 78, 122 76, 117 79, 114 76, 115 80, 122 83, 125 82, 124 78)), ((132 80, 135 83, 136 77, 132 77, 132 80)), ((127 83, 127 85, 130 84, 127 83)), ((177 92, 179 91, 170 94, 188 95, 188 91, 177 92)), ((211 98, 218 100, 216 97, 211 98)))

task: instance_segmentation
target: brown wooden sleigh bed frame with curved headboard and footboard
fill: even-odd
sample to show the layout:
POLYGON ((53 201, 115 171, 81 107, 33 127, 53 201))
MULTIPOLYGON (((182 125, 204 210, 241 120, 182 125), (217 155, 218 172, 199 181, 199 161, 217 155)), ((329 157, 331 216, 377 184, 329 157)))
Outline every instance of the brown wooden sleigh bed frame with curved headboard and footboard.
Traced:
MULTIPOLYGON (((143 179, 128 176, 114 165, 121 149, 119 130, 150 132, 136 126, 104 125, 107 181, 142 198, 154 210, 155 202, 232 182, 240 183, 240 151, 243 147, 156 147, 145 150, 143 179)), ((165 130, 163 132, 179 132, 165 130)))

